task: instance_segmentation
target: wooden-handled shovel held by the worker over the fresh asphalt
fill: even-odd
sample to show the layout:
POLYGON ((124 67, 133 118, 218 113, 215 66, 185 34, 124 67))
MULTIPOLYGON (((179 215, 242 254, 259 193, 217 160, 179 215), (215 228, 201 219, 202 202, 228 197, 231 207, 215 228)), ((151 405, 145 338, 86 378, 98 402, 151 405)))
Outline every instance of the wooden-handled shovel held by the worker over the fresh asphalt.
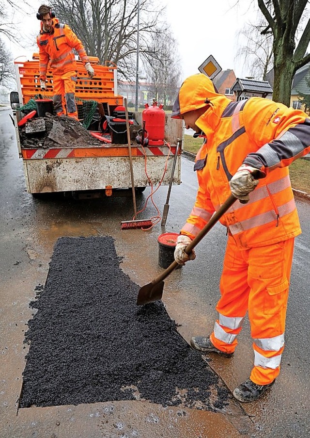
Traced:
MULTIPOLYGON (((195 239, 192 240, 189 245, 186 246, 185 252, 186 254, 191 253, 191 251, 195 248, 197 243, 199 243, 202 238, 207 234, 208 231, 217 223, 220 217, 233 205, 236 201, 236 198, 233 195, 230 195, 228 199, 220 206, 220 208, 214 213, 209 222, 202 228, 202 230, 197 234, 195 239)), ((154 301, 160 300, 163 296, 164 290, 164 279, 167 278, 171 272, 178 266, 177 261, 173 261, 170 266, 159 276, 157 276, 151 283, 146 284, 140 288, 137 298, 137 306, 141 306, 142 304, 153 303, 154 301)))

